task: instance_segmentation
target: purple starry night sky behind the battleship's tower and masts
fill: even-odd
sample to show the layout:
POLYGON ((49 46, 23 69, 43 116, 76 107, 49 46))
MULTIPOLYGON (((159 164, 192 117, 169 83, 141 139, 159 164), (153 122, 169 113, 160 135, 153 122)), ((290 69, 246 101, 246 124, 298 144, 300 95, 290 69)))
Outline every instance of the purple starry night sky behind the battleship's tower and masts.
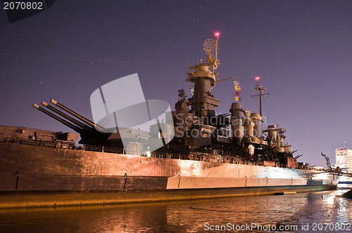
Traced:
MULTIPOLYGON (((134 73, 146 99, 174 109, 219 31, 221 78, 235 76, 241 105, 259 112, 260 76, 266 124, 286 128, 298 161, 326 166, 320 152, 334 164, 335 149, 352 148, 352 1, 56 1, 13 23, 0 12, 1 125, 72 131, 32 103, 54 98, 92 119, 92 92, 134 73)), ((213 92, 228 112, 233 81, 213 92)))

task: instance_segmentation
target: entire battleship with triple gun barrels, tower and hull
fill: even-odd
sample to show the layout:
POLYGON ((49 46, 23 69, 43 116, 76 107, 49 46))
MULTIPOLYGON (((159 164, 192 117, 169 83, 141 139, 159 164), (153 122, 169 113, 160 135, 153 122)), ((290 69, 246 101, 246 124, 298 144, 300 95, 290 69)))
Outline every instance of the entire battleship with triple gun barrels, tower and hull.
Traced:
POLYGON ((215 113, 220 105, 212 91, 220 81, 215 37, 203 43, 206 59, 187 73, 192 96, 179 90, 175 110, 162 111, 164 118, 156 117, 149 130, 92 121, 53 99, 33 107, 77 133, 0 126, 0 208, 336 189, 336 175, 297 161, 301 155, 294 156, 284 128, 263 130, 261 102, 268 94, 258 82, 259 113, 239 101, 232 102, 229 113, 215 113))

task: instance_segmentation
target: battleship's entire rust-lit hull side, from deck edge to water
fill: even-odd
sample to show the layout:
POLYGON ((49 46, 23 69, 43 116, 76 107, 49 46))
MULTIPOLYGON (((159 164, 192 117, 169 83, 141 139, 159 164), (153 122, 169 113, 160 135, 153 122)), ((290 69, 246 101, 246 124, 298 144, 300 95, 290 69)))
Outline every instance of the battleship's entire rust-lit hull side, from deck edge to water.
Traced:
POLYGON ((0 143, 0 208, 178 201, 334 189, 294 168, 0 143))

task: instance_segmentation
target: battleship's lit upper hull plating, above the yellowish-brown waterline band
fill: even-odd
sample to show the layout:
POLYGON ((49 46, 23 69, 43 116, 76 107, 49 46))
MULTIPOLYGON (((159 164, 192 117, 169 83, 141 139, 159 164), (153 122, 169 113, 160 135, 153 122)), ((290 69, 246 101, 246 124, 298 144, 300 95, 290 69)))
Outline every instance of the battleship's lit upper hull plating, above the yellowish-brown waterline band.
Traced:
POLYGON ((0 143, 1 192, 328 188, 331 175, 291 168, 139 157, 0 143))

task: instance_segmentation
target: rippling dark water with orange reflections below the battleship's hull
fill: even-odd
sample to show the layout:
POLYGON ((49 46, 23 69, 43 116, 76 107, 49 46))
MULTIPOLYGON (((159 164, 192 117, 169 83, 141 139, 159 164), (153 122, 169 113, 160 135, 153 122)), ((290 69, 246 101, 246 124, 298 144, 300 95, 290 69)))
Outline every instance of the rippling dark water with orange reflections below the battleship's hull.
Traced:
MULTIPOLYGON (((308 224, 312 230, 313 224, 318 229, 321 223, 322 232, 329 232, 329 227, 335 229, 335 224, 352 223, 352 200, 336 197, 346 191, 163 204, 0 211, 0 232, 210 232, 207 230, 210 226, 234 227, 252 223, 262 227, 296 225, 298 228, 294 232, 310 232, 304 231, 302 225, 308 224)), ((349 229, 340 232, 351 232, 352 227, 349 229)), ((227 231, 223 228, 221 232, 227 231)), ((237 232, 255 231, 245 229, 237 232)))

